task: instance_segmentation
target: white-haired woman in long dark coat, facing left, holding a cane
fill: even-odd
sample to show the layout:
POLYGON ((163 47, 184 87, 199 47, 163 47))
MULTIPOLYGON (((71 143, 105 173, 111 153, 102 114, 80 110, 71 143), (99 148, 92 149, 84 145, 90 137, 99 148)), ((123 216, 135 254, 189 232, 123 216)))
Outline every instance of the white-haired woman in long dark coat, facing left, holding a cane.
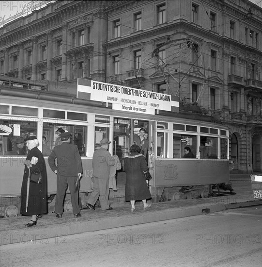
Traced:
POLYGON ((46 177, 46 163, 42 152, 37 148, 39 141, 36 136, 32 135, 25 139, 29 150, 28 156, 24 162, 24 176, 21 188, 21 215, 31 215, 31 221, 26 225, 30 227, 36 225, 37 219, 40 215, 47 213, 47 177, 46 177), (37 163, 32 164, 32 157, 36 157, 37 163), (30 182, 29 187, 29 200, 26 210, 27 202, 27 180, 30 171, 41 172, 42 183, 35 184, 30 182))

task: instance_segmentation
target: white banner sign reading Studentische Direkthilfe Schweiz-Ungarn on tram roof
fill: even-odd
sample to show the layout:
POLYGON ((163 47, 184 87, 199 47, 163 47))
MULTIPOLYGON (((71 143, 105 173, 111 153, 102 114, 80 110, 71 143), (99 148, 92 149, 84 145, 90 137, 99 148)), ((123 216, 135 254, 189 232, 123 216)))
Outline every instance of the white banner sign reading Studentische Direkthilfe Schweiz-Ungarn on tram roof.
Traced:
POLYGON ((112 103, 116 110, 154 114, 154 110, 179 112, 179 101, 167 94, 123 85, 77 79, 77 98, 112 103))

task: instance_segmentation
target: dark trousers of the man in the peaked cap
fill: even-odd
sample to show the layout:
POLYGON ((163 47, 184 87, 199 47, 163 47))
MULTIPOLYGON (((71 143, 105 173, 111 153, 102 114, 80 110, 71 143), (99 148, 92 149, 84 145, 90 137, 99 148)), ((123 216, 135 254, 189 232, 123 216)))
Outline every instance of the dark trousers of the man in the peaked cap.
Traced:
POLYGON ((80 212, 80 207, 78 204, 78 190, 75 189, 75 184, 77 182, 77 177, 69 177, 62 176, 60 174, 57 175, 57 194, 56 194, 56 205, 55 205, 55 213, 62 214, 63 213, 63 202, 64 196, 69 186, 70 195, 71 195, 71 204, 73 207, 73 213, 77 214, 80 212))

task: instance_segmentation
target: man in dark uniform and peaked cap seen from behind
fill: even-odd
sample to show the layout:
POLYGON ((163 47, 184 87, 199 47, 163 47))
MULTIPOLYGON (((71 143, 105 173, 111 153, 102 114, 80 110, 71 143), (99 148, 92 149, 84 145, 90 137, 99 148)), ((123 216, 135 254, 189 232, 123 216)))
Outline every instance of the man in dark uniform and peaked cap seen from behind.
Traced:
POLYGON ((48 157, 50 168, 57 174, 55 213, 58 218, 62 218, 67 186, 69 186, 71 194, 74 216, 81 216, 78 204, 78 180, 82 176, 82 163, 77 146, 70 144, 70 136, 71 134, 68 132, 60 134, 62 145, 54 147, 48 157), (55 159, 57 159, 57 165, 55 159))

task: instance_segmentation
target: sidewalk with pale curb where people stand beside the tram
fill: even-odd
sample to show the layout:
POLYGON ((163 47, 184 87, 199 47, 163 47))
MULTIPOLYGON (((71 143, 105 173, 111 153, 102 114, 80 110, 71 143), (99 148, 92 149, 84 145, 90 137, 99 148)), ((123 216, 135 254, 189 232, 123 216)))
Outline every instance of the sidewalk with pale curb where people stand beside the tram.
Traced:
POLYGON ((143 210, 142 202, 137 202, 134 213, 131 213, 130 203, 125 202, 123 198, 119 198, 111 200, 113 210, 102 211, 101 208, 96 208, 93 211, 82 209, 82 217, 74 218, 72 212, 65 212, 61 219, 56 218, 54 213, 48 213, 38 220, 36 226, 30 228, 25 227, 29 217, 0 218, 0 245, 20 242, 28 243, 31 240, 47 242, 47 239, 52 237, 63 238, 63 236, 69 234, 195 216, 262 204, 262 200, 254 200, 253 198, 249 174, 232 175, 231 182, 234 189, 232 195, 229 191, 221 190, 222 196, 219 197, 152 203, 152 207, 148 210, 143 210))

